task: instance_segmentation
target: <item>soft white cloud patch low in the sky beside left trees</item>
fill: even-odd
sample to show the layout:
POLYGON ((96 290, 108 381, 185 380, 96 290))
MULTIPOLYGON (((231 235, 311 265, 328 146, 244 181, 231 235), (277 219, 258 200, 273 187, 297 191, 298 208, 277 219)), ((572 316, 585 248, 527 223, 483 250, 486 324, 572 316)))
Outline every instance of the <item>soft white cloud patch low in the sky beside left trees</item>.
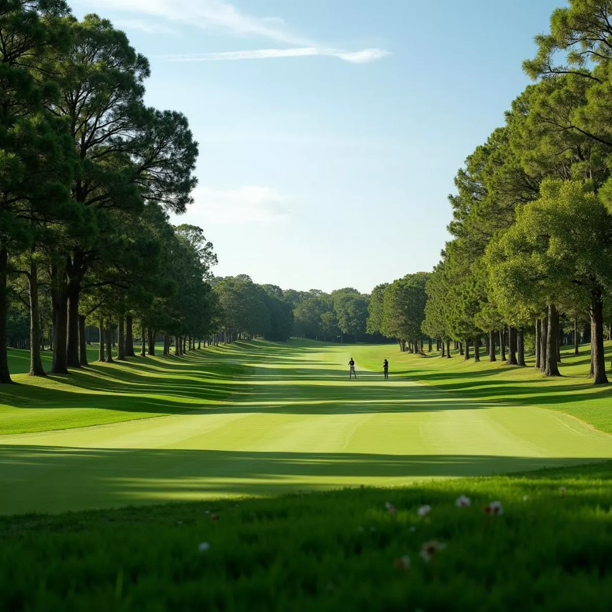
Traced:
POLYGON ((197 187, 195 203, 188 210, 204 228, 208 225, 271 225, 287 217, 286 198, 270 187, 240 187, 217 190, 197 187))

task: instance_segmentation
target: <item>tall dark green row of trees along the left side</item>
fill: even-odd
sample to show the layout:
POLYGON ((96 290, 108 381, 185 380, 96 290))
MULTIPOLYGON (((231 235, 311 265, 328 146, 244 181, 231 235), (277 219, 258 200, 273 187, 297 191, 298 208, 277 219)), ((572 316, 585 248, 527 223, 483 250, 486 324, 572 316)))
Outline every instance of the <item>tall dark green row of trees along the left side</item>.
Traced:
POLYGON ((106 361, 114 337, 122 360, 136 333, 181 354, 212 331, 212 244, 168 216, 192 203, 198 146, 185 116, 146 105, 149 73, 98 15, 0 4, 1 383, 16 334, 43 376, 47 345, 52 373, 87 364, 88 323, 106 361))

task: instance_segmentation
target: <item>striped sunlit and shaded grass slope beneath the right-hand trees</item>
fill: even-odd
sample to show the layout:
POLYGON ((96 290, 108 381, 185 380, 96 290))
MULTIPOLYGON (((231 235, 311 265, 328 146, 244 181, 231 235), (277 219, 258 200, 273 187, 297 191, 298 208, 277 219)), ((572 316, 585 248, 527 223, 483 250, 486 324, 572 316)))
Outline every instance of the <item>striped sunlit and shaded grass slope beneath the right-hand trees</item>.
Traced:
MULTIPOLYGON (((363 356, 365 367, 380 370, 382 360, 391 361, 391 376, 409 377, 450 394, 476 401, 496 401, 513 405, 540 406, 571 414, 593 427, 612 433, 612 385, 594 386, 588 378, 590 347, 580 346, 575 356, 572 347, 562 349, 559 378, 545 378, 535 370, 535 359, 527 357, 527 367, 509 366, 497 361, 490 363, 481 354, 481 361, 464 361, 452 351, 452 359, 442 359, 434 351, 423 356, 401 354, 394 346, 379 346, 375 351, 353 349, 363 356), (360 352, 361 351, 361 352, 360 352)), ((612 343, 606 342, 606 364, 610 374, 612 343)))

